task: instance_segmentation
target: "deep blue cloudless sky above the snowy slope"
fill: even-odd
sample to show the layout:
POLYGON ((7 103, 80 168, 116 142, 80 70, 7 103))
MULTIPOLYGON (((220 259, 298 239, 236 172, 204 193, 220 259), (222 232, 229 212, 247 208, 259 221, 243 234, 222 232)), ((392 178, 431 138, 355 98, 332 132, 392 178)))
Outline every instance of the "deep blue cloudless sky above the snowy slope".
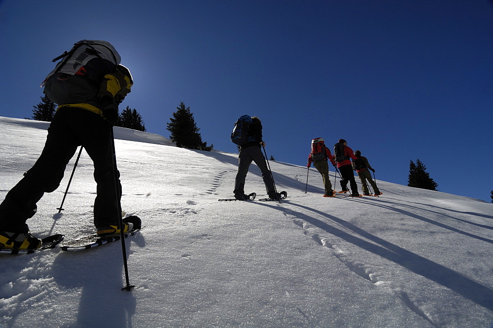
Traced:
POLYGON ((121 109, 148 132, 169 137, 183 101, 235 152, 234 121, 258 115, 278 161, 344 138, 379 180, 406 185, 419 158, 440 191, 491 201, 491 0, 1 0, 0 115, 31 117, 80 39, 116 47, 135 82, 121 109))

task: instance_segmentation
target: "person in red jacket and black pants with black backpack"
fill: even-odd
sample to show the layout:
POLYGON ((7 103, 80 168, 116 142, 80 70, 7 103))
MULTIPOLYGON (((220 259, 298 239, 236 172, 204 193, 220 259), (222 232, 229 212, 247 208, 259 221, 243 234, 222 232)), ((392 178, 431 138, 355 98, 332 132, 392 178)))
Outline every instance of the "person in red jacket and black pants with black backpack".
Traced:
POLYGON ((361 197, 358 192, 358 185, 354 179, 354 173, 352 172, 352 159, 357 159, 352 149, 348 147, 348 143, 344 139, 339 139, 339 142, 334 145, 334 159, 337 162, 337 168, 341 172, 341 187, 342 190, 339 193, 346 193, 349 191, 348 182, 351 186, 351 192, 353 197, 361 197))

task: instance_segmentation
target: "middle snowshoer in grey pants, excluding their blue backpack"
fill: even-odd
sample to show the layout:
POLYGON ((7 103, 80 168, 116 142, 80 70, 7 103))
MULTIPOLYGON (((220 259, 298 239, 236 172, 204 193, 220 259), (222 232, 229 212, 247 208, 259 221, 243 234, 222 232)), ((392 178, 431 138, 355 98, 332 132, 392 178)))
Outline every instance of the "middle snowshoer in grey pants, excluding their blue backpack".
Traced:
POLYGON ((249 141, 242 146, 238 146, 240 155, 238 157, 239 164, 238 173, 236 174, 235 179, 235 189, 233 190, 235 198, 238 200, 248 199, 248 196, 245 195, 245 179, 248 168, 253 161, 262 172, 262 179, 269 198, 279 199, 280 196, 274 187, 271 171, 267 168, 265 157, 262 154, 261 147, 265 146, 265 143, 262 141, 262 123, 258 117, 252 117, 252 123, 248 129, 248 136, 249 141))

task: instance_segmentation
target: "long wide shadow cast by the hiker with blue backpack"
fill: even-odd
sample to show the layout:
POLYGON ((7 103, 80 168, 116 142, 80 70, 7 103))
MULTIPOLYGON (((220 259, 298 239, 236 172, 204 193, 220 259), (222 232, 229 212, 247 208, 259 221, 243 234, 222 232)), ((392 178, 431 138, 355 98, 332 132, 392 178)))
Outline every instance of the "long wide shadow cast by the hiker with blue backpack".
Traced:
POLYGON ((417 255, 413 252, 407 251, 402 247, 394 245, 380 237, 372 235, 367 231, 355 226, 354 224, 347 222, 343 219, 331 216, 327 213, 317 211, 313 208, 309 208, 300 204, 294 204, 290 202, 285 202, 290 206, 297 206, 303 210, 316 213, 321 217, 325 217, 332 222, 349 229, 355 235, 352 235, 342 229, 339 229, 333 225, 330 225, 322 220, 310 217, 301 212, 287 209, 285 207, 270 205, 270 204, 258 204, 261 206, 271 207, 282 211, 288 215, 293 215, 299 219, 303 219, 308 223, 320 228, 338 238, 341 238, 353 245, 360 247, 368 252, 382 256, 387 260, 390 260, 400 266, 423 276, 426 279, 436 282, 450 290, 457 292, 458 294, 470 299, 474 303, 483 306, 490 311, 493 311, 493 290, 488 286, 485 286, 479 282, 476 282, 466 276, 460 274, 459 272, 447 268, 441 264, 433 262, 423 256, 417 255), (366 238, 373 243, 366 241, 357 235, 366 238))

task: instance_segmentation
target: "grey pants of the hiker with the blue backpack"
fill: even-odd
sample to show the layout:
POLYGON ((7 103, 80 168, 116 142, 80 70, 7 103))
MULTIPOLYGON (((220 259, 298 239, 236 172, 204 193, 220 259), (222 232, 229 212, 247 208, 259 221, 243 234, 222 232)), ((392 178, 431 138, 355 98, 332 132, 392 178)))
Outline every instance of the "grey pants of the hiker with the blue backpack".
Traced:
POLYGON ((265 190, 267 193, 269 191, 274 191, 274 183, 272 182, 271 171, 267 168, 267 163, 265 162, 262 150, 257 146, 250 146, 242 148, 240 150, 240 156, 238 157, 238 173, 235 179, 235 190, 233 191, 235 195, 245 194, 245 179, 248 173, 248 168, 251 162, 255 162, 260 171, 262 172, 262 179, 265 184, 265 190))

